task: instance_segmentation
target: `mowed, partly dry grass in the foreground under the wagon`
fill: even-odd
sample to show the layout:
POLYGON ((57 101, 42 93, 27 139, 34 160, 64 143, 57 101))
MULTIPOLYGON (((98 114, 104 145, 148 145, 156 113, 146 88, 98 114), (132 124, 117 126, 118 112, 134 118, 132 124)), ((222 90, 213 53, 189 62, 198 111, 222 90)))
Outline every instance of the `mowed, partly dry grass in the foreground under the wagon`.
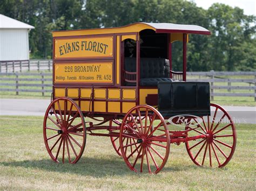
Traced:
POLYGON ((156 175, 134 173, 110 138, 87 136, 75 165, 56 164, 44 145, 43 117, 0 117, 0 189, 255 190, 256 125, 237 124, 237 148, 223 169, 193 164, 185 145, 172 144, 156 175))

